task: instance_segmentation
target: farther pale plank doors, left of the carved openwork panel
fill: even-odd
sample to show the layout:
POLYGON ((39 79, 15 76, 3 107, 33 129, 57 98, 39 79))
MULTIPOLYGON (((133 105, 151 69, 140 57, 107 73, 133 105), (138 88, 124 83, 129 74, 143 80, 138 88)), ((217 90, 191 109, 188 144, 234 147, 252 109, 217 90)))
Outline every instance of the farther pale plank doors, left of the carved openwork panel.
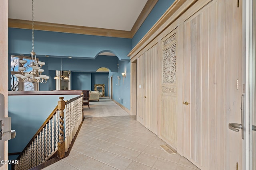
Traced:
POLYGON ((157 134, 157 45, 137 59, 137 120, 157 134))

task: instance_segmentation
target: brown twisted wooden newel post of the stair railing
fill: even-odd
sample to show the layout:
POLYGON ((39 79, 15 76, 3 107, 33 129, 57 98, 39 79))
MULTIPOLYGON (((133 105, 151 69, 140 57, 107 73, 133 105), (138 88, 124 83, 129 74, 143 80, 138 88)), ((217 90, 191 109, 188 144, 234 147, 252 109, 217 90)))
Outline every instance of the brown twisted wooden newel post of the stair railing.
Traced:
POLYGON ((65 156, 65 143, 64 143, 64 109, 65 101, 64 97, 60 97, 58 101, 58 109, 60 113, 60 122, 59 122, 59 141, 58 141, 58 157, 63 158, 65 156))

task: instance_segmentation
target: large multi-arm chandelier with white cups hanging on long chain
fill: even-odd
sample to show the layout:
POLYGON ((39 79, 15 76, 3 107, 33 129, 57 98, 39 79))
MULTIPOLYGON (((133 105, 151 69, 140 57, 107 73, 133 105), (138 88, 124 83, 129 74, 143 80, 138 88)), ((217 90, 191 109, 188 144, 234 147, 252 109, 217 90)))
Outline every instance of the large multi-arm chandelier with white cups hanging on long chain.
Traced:
POLYGON ((30 52, 30 63, 25 66, 26 63, 26 60, 20 60, 22 66, 19 66, 18 69, 21 74, 14 74, 19 82, 47 82, 50 77, 42 74, 44 69, 41 69, 45 63, 37 61, 36 53, 34 52, 34 0, 32 0, 32 51, 30 52), (32 68, 32 71, 26 71, 29 68, 32 68))

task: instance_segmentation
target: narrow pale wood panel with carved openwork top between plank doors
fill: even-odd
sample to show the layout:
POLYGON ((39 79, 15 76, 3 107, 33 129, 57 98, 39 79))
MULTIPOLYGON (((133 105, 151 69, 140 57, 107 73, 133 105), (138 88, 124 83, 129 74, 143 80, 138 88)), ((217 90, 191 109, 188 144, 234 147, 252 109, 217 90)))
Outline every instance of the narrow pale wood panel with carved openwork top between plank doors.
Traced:
POLYGON ((162 112, 160 136, 177 149, 177 98, 176 98, 176 31, 161 41, 162 45, 162 112))

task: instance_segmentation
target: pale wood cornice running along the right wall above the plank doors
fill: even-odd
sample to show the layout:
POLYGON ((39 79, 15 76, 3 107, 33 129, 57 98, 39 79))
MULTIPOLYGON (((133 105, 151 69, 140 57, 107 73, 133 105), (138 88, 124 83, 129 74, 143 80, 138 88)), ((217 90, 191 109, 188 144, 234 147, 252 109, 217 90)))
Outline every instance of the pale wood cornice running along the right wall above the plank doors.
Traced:
POLYGON ((178 19, 192 4, 198 0, 175 0, 174 3, 166 10, 162 17, 152 26, 152 28, 144 35, 144 37, 138 42, 138 44, 127 55, 132 59, 136 54, 140 52, 143 47, 148 45, 155 37, 157 37, 162 31, 170 26, 176 19, 178 19), (182 6, 186 5, 184 8, 182 6), (179 10, 179 11, 178 11, 179 10), (170 20, 172 18, 172 20, 170 20), (168 21, 168 23, 165 23, 168 21), (150 39, 150 41, 149 41, 150 39))

